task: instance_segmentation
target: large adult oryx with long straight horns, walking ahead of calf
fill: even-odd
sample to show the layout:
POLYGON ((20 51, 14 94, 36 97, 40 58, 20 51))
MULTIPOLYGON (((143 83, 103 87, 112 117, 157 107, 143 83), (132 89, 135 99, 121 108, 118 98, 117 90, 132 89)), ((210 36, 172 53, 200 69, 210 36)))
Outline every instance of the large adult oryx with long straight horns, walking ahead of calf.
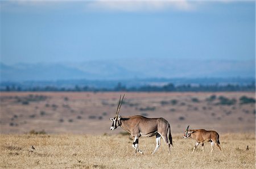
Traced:
MULTIPOLYGON (((123 98, 125 95, 123 95, 123 98)), ((156 136, 156 147, 152 154, 158 150, 160 146, 160 139, 161 137, 163 140, 168 144, 169 153, 171 152, 170 145, 172 145, 172 135, 171 135, 171 128, 170 124, 167 120, 163 118, 154 118, 150 119, 143 116, 131 116, 131 117, 121 117, 118 115, 123 98, 121 101, 121 95, 119 99, 119 103, 117 106, 117 112, 115 113, 115 117, 110 119, 113 121, 110 130, 116 129, 120 126, 123 130, 130 133, 131 136, 134 137, 133 147, 135 149, 135 153, 139 151, 139 153, 143 154, 143 151, 138 149, 139 137, 151 137, 156 136)))

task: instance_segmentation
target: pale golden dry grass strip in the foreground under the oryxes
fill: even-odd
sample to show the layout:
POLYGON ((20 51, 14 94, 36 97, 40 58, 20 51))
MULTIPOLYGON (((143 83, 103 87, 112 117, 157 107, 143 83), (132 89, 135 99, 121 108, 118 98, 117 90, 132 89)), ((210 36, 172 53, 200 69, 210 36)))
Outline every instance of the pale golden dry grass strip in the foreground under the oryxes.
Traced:
POLYGON ((197 147, 194 140, 173 134, 174 147, 168 155, 163 143, 156 154, 155 138, 141 138, 144 155, 134 154, 130 136, 2 134, 0 168, 255 168, 255 134, 222 134, 222 151, 210 154, 197 147), (30 152, 31 145, 35 151, 30 152), (249 150, 246 150, 247 145, 249 150))

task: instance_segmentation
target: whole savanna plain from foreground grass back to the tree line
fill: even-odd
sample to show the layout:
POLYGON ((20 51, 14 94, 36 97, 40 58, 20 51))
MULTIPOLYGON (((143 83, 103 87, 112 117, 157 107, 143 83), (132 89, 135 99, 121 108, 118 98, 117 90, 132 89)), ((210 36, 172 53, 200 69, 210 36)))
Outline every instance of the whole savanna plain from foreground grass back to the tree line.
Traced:
POLYGON ((254 92, 127 92, 121 116, 164 117, 174 146, 110 132, 119 92, 2 92, 0 168, 255 168, 254 92), (183 139, 185 128, 216 130, 222 151, 183 139), (31 150, 31 146, 35 150, 31 150), (246 149, 248 146, 249 149, 246 149))

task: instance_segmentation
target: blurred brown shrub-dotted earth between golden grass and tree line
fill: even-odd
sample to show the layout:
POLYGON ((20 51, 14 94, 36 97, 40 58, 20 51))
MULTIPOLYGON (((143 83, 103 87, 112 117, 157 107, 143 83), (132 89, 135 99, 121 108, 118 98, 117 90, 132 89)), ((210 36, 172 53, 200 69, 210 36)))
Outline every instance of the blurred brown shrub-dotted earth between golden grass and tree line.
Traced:
MULTIPOLYGON (((119 128, 110 131, 109 120, 120 94, 1 92, 0 133, 120 133, 119 128)), ((164 117, 172 133, 183 133, 187 125, 218 133, 255 133, 255 103, 241 104, 242 96, 255 99, 254 92, 127 92, 119 115, 164 117)))

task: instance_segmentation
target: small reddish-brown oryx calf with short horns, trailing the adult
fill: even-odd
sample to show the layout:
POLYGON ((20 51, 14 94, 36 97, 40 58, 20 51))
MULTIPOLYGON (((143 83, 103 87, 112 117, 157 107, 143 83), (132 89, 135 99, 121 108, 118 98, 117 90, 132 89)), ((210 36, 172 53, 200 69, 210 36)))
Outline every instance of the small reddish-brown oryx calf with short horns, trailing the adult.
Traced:
POLYGON ((199 130, 189 130, 188 129, 189 126, 187 127, 185 134, 183 136, 183 138, 188 138, 191 137, 194 140, 196 140, 196 145, 193 148, 192 153, 194 153, 196 147, 201 143, 202 144, 202 149, 204 151, 204 141, 208 141, 210 142, 210 145, 212 145, 212 150, 210 151, 210 153, 212 153, 213 149, 214 149, 214 143, 216 144, 216 146, 218 147, 218 149, 221 150, 220 147, 220 141, 218 140, 218 138, 220 137, 218 135, 217 132, 215 131, 207 131, 204 129, 199 129, 199 130))

